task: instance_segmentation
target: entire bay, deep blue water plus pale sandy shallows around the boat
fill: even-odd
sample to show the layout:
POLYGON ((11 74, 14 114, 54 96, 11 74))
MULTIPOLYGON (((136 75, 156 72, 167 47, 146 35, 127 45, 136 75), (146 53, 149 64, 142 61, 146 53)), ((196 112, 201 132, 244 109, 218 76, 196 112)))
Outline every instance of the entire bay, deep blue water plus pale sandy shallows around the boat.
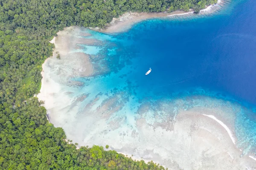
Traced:
POLYGON ((64 29, 38 98, 79 146, 108 144, 174 169, 253 168, 255 10, 233 0, 116 34, 64 29))

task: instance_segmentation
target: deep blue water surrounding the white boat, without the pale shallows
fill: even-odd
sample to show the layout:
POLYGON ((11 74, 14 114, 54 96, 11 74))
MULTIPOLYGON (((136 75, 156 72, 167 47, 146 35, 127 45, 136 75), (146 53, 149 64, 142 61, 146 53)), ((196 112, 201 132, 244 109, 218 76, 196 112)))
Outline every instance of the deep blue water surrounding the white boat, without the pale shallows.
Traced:
POLYGON ((203 88, 256 105, 256 1, 231 3, 220 14, 148 20, 116 35, 132 40, 121 53, 137 59, 132 78, 139 89, 168 97, 203 88))

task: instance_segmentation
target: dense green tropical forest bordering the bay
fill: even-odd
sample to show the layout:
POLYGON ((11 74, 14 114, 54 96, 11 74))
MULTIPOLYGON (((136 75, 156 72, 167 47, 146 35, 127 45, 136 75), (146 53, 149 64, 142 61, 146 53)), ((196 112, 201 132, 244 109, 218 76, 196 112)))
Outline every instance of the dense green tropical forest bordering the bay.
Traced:
MULTIPOLYGON (((217 0, 0 0, 0 167, 3 170, 163 170, 103 147, 68 144, 33 95, 49 40, 67 26, 104 27, 124 12, 199 12, 217 0)), ((109 144, 111 146, 111 144, 109 144)), ((108 147, 108 146, 107 146, 108 147)))

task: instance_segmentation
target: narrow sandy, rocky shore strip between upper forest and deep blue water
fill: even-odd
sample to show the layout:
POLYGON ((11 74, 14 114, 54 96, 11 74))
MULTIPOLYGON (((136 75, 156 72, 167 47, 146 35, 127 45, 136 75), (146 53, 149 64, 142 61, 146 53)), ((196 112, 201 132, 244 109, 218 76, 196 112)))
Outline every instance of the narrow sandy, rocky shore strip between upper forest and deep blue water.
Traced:
MULTIPOLYGON (((218 2, 214 5, 209 5, 205 9, 201 9, 197 15, 204 14, 204 13, 212 13, 215 12, 216 9, 214 7, 219 7, 220 4, 224 3, 224 0, 218 0, 218 2)), ((136 23, 140 23, 144 20, 150 19, 169 19, 170 17, 175 16, 184 16, 189 14, 194 14, 193 9, 189 9, 189 12, 185 12, 182 10, 177 10, 171 13, 167 12, 160 12, 160 13, 146 13, 146 12, 126 12, 119 16, 118 18, 113 18, 113 20, 106 25, 104 29, 96 28, 89 28, 93 31, 103 32, 103 33, 110 33, 115 34, 119 32, 126 32, 131 29, 132 26, 136 23)))

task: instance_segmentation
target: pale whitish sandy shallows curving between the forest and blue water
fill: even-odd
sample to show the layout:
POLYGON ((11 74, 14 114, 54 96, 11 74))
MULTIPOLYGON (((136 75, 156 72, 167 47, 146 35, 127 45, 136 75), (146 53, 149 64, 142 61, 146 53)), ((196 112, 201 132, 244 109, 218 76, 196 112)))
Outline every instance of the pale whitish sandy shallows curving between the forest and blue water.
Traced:
POLYGON ((134 107, 134 96, 126 91, 108 95, 104 88, 94 90, 99 89, 97 79, 93 85, 70 81, 109 71, 105 63, 96 62, 97 58, 101 61, 100 56, 87 55, 79 46, 105 41, 83 36, 90 37, 86 29, 69 27, 51 41, 55 43, 53 57, 43 64, 37 95, 45 101, 50 122, 63 127, 73 143, 90 147, 108 144, 109 150, 133 155, 136 160, 152 160, 173 170, 256 170, 255 156, 244 154, 237 146, 234 110, 241 109, 239 104, 191 96, 175 101, 145 100, 134 107), (186 109, 189 102, 212 107, 186 109))

